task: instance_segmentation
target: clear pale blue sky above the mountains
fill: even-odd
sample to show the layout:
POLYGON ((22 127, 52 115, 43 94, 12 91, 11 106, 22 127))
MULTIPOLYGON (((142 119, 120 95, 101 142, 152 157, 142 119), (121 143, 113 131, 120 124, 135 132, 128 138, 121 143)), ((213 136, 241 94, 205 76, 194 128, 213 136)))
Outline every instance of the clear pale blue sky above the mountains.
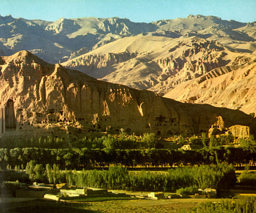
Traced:
POLYGON ((256 21, 256 0, 0 0, 0 15, 56 21, 59 18, 115 17, 134 22, 213 15, 256 21))

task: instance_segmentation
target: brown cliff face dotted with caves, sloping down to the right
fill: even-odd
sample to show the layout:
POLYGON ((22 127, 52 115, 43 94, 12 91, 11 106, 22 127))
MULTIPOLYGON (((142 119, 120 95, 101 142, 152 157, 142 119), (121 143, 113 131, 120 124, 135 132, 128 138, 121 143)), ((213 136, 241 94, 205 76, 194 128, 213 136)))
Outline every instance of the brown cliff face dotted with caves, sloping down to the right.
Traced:
POLYGON ((192 105, 97 81, 88 75, 48 64, 29 51, 0 57, 0 105, 13 101, 17 129, 26 126, 73 126, 81 131, 201 134, 212 125, 226 131, 255 120, 238 110, 192 105))

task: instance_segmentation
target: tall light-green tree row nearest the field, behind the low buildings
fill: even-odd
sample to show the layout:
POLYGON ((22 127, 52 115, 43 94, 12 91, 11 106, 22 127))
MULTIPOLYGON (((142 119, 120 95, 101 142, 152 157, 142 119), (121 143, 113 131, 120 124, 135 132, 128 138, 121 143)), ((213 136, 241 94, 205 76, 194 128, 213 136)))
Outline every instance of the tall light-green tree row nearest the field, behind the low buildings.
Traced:
POLYGON ((127 168, 109 167, 107 171, 60 171, 58 165, 30 161, 26 173, 31 181, 68 183, 69 186, 132 191, 175 191, 182 187, 229 188, 236 183, 230 164, 201 165, 169 169, 167 172, 128 172, 127 168))

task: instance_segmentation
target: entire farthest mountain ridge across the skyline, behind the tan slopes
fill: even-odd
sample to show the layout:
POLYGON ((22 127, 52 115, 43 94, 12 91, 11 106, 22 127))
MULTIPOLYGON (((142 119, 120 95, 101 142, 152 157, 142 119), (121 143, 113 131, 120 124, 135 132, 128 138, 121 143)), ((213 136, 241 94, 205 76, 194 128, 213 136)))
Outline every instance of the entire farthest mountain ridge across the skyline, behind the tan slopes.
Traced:
POLYGON ((197 36, 221 43, 255 41, 255 22, 226 21, 215 16, 189 16, 152 23, 127 18, 60 18, 55 22, 0 16, 0 49, 11 55, 30 50, 50 63, 66 61, 117 39, 150 33, 178 38, 197 36))

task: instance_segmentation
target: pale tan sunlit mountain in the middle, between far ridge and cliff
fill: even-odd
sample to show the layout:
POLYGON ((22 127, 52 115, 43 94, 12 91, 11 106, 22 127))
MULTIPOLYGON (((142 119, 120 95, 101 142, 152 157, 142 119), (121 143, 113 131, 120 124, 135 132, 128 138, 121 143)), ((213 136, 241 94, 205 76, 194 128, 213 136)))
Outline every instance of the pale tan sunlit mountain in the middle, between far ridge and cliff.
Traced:
MULTIPOLYGON (((254 42, 251 43, 253 49, 254 42)), ((173 39, 137 35, 111 42, 62 65, 104 81, 165 94, 179 83, 200 77, 212 69, 241 65, 254 58, 256 55, 252 50, 248 53, 196 36, 173 39), (109 61, 110 53, 118 60, 105 63, 109 61), (132 56, 124 60, 124 53, 132 56), (90 60, 92 55, 94 60, 90 60)))

